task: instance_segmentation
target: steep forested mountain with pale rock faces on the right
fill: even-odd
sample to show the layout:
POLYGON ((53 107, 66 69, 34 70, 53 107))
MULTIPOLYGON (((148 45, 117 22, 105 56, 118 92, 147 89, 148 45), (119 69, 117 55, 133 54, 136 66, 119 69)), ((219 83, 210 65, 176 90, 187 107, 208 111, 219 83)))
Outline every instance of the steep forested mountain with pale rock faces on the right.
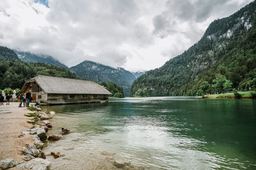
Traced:
POLYGON ((162 67, 134 81, 131 96, 195 96, 256 88, 256 1, 214 20, 204 36, 162 67), (227 89, 225 87, 228 87, 227 89))

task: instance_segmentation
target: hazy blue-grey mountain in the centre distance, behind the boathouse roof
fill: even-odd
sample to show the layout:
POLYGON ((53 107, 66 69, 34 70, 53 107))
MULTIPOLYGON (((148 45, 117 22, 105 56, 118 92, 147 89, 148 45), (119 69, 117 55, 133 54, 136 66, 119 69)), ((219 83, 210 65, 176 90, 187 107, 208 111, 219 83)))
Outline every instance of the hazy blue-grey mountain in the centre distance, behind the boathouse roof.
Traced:
POLYGON ((84 62, 77 64, 77 66, 70 67, 70 70, 77 76, 86 80, 116 83, 116 85, 124 88, 125 96, 129 96, 132 82, 136 79, 131 72, 126 71, 123 68, 118 67, 115 69, 88 60, 84 60, 84 62))

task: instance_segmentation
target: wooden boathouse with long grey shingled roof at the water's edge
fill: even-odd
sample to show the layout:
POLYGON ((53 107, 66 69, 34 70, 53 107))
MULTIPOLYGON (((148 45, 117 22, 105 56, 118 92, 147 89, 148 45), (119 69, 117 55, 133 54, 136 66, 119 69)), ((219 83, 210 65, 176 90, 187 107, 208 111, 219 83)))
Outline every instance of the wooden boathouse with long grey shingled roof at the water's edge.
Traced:
POLYGON ((99 103, 111 94, 101 85, 87 80, 38 75, 26 81, 20 92, 31 90, 32 101, 46 104, 99 103))

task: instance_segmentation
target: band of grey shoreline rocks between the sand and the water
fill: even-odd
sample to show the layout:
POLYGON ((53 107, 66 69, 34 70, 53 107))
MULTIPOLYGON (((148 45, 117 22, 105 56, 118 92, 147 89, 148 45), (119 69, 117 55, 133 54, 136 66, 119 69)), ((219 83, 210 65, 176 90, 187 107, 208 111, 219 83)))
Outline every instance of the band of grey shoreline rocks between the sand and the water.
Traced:
MULTIPOLYGON (((0 161, 0 169, 10 169, 16 167, 16 169, 51 169, 51 162, 46 159, 46 155, 42 152, 44 145, 47 141, 56 141, 61 139, 62 136, 51 135, 47 136, 47 131, 52 127, 49 119, 52 117, 47 115, 40 108, 34 108, 36 110, 34 113, 25 113, 26 117, 33 117, 28 120, 28 123, 33 124, 30 129, 24 129, 24 131, 19 135, 19 138, 24 138, 25 136, 31 136, 33 139, 33 144, 26 143, 26 147, 22 149, 22 154, 25 155, 24 159, 26 162, 19 162, 15 159, 4 159, 0 161)), ((54 158, 60 157, 60 153, 52 154, 54 158)), ((47 155, 49 156, 49 155, 47 155)))

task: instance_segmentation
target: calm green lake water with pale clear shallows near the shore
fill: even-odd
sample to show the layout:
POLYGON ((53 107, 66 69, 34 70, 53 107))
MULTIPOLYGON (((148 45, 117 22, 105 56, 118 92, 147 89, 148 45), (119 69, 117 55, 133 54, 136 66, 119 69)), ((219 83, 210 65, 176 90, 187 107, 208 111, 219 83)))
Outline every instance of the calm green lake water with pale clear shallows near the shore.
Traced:
POLYGON ((51 106, 52 169, 256 169, 256 100, 147 97, 51 106), (113 153, 113 159, 102 152, 113 153))

